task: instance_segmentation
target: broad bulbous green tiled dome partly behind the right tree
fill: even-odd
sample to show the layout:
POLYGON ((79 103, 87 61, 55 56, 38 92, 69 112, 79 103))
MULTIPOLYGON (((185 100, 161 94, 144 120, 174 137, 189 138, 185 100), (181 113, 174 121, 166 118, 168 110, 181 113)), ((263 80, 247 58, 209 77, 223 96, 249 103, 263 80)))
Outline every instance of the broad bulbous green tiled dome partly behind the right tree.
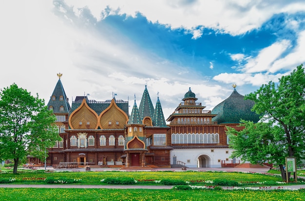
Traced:
POLYGON ((217 114, 212 118, 212 121, 221 123, 239 123, 241 119, 253 121, 257 123, 259 121, 259 115, 251 111, 254 105, 254 101, 244 100, 244 96, 240 95, 236 89, 225 101, 222 101, 211 111, 212 114, 217 114))

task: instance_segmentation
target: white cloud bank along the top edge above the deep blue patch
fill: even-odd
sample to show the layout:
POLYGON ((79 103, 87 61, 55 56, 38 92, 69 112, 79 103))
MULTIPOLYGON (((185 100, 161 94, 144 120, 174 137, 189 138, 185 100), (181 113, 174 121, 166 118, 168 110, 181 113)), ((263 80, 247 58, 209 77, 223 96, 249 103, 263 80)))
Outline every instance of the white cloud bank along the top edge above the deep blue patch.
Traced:
MULTIPOLYGON (((107 6, 113 10, 119 9, 120 15, 135 17, 140 12, 153 23, 169 25, 172 29, 184 27, 188 30, 202 25, 204 27, 230 33, 243 34, 259 28, 274 14, 282 12, 296 13, 305 10, 305 2, 299 1, 267 1, 267 0, 66 0, 76 7, 85 7, 100 19, 100 13, 107 6)), ((201 30, 195 29, 194 38, 201 35, 201 30)))

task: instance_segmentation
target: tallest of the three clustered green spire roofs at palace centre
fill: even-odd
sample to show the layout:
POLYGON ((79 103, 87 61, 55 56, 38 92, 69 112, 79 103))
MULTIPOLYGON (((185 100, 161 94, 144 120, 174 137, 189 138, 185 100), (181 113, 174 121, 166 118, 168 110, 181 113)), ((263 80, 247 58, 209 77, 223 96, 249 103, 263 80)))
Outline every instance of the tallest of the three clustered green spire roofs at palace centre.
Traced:
POLYGON ((152 100, 151 97, 148 93, 147 90, 147 85, 145 85, 145 89, 143 92, 143 96, 139 105, 139 114, 141 119, 143 119, 144 117, 151 117, 153 116, 153 105, 152 105, 152 100))

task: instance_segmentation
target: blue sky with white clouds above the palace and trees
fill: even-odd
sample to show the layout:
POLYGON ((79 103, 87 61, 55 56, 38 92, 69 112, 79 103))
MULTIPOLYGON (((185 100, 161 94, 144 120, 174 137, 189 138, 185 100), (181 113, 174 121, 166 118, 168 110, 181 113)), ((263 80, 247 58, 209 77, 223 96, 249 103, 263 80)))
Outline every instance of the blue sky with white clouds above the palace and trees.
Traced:
POLYGON ((131 113, 147 85, 165 119, 189 87, 212 110, 305 62, 304 0, 6 0, 0 24, 0 89, 47 104, 60 72, 70 105, 115 93, 131 113))

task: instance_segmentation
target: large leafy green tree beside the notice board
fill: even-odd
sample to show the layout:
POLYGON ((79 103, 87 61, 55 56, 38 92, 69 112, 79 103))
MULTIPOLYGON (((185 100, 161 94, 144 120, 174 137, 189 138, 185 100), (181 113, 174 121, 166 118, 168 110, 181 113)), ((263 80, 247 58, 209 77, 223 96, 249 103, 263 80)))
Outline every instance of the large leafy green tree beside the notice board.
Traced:
POLYGON ((262 114, 261 122, 242 121, 245 128, 239 132, 228 127, 231 157, 241 157, 251 163, 271 161, 279 165, 286 180, 285 159, 305 158, 305 73, 303 65, 290 75, 263 84, 260 89, 245 96, 255 101, 252 111, 262 114))

